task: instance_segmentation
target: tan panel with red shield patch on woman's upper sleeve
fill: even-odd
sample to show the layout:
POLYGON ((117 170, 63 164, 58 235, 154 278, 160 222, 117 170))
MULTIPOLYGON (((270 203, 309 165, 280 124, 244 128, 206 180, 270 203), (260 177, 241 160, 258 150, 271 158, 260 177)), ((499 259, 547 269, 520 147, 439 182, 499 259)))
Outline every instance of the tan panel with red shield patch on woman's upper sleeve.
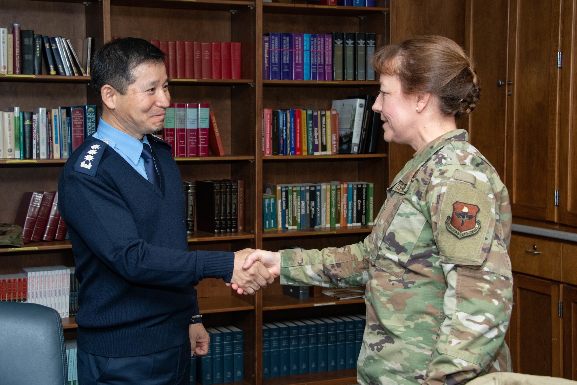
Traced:
POLYGON ((441 262, 481 265, 495 225, 494 201, 469 183, 448 182, 437 223, 441 262))

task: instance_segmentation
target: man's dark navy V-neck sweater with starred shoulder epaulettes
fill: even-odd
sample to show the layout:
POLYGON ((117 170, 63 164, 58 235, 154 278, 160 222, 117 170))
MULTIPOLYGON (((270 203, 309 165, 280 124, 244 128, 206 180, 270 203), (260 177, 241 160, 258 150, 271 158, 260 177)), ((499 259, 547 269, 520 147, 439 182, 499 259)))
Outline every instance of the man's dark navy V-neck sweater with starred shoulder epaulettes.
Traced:
POLYGON ((148 140, 160 188, 96 138, 74 151, 58 182, 80 282, 78 346, 99 356, 182 345, 198 314, 194 286, 233 274, 234 253, 188 250, 180 171, 166 142, 148 140))

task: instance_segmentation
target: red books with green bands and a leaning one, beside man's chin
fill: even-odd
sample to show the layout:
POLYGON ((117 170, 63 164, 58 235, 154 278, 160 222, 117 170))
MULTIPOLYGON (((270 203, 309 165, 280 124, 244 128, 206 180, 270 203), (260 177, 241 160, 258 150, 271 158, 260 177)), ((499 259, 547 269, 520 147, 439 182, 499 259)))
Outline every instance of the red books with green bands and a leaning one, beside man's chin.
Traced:
POLYGON ((175 158, 224 156, 220 132, 209 103, 170 103, 164 117, 163 139, 175 158))

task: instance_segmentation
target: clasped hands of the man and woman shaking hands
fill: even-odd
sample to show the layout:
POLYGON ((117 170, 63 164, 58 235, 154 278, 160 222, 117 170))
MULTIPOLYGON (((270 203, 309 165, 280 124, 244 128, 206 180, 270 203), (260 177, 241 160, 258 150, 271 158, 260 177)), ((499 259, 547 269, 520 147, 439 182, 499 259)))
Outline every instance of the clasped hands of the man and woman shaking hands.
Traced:
POLYGON ((254 294, 280 275, 280 253, 244 249, 234 253, 232 286, 238 294, 254 294))

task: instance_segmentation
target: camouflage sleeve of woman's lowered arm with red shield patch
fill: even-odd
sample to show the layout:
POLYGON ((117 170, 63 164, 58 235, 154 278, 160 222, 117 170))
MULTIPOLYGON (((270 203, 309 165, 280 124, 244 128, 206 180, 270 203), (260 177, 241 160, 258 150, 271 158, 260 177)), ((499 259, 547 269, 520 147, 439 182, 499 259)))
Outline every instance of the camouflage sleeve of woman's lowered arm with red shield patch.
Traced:
POLYGON ((423 209, 430 212, 447 291, 424 384, 458 384, 509 369, 499 367, 497 356, 507 351, 512 275, 492 190, 499 183, 491 175, 473 166, 441 166, 426 191, 423 209))

